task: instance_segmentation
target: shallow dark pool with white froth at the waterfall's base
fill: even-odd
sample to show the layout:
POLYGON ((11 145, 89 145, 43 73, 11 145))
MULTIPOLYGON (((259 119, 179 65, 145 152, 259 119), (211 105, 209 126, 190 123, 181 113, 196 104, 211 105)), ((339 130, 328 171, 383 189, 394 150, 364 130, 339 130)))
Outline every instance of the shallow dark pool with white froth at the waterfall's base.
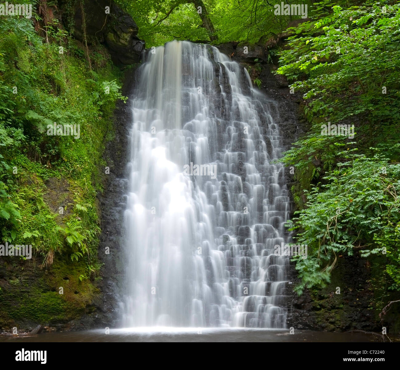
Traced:
POLYGON ((124 328, 78 332, 0 335, 0 342, 381 342, 382 337, 364 332, 314 332, 310 330, 244 328, 124 328))

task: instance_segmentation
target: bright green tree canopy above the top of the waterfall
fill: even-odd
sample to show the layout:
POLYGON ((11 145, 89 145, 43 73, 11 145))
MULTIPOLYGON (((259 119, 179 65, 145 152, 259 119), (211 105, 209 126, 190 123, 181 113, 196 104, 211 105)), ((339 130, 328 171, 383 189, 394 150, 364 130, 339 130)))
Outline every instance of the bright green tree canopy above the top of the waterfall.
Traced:
POLYGON ((132 14, 147 47, 173 39, 257 42, 263 36, 282 32, 291 20, 299 18, 275 16, 274 4, 280 2, 268 0, 118 0, 117 3, 132 14))

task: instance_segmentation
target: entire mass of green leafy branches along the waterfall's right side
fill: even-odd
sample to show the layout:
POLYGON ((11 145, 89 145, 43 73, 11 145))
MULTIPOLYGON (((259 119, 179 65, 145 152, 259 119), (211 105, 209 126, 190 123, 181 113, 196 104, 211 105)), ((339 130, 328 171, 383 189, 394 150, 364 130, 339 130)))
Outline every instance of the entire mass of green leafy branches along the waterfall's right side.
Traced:
POLYGON ((278 69, 304 94, 310 122, 284 157, 296 168, 292 192, 302 208, 294 228, 309 248, 296 265, 297 289, 324 285, 338 257, 360 250, 382 256, 388 287, 399 290, 400 6, 314 6, 278 69), (323 135, 328 122, 354 125, 354 137, 323 135))

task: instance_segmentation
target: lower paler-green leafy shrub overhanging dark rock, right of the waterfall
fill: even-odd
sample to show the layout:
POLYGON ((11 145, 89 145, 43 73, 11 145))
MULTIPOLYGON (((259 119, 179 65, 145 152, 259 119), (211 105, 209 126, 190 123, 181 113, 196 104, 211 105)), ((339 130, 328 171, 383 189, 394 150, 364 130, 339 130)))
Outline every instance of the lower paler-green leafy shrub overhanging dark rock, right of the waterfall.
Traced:
POLYGON ((302 279, 296 288, 324 285, 341 255, 360 250, 363 257, 387 256, 386 271, 398 289, 400 252, 400 164, 387 158, 373 158, 351 152, 324 180, 307 192, 306 208, 296 212, 292 226, 298 243, 308 245, 308 258, 297 259, 302 279))

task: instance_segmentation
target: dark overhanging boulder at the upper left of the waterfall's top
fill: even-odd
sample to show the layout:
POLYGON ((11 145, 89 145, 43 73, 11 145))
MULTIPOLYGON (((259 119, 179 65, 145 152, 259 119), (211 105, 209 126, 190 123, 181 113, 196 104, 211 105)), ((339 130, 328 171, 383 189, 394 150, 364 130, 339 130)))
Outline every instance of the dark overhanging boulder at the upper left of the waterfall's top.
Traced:
POLYGON ((86 40, 91 43, 96 38, 107 47, 116 65, 138 63, 145 43, 136 35, 138 26, 129 14, 124 13, 116 4, 108 0, 84 1, 84 17, 81 6, 76 7, 74 36, 84 40, 84 25, 86 40))

